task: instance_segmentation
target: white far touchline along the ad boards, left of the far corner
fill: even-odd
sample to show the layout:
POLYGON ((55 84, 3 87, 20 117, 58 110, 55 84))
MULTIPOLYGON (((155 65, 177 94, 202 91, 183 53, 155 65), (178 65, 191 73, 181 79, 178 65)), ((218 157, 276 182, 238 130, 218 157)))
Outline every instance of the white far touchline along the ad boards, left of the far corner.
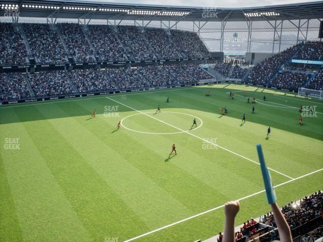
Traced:
MULTIPOLYGON (((114 95, 114 96, 131 96, 131 95, 138 95, 138 94, 151 94, 151 93, 156 93, 156 92, 173 92, 173 91, 181 91, 181 90, 187 90, 187 89, 193 89, 193 88, 196 88, 196 87, 182 87, 182 88, 167 88, 167 89, 163 89, 163 90, 159 90, 159 91, 156 91, 156 90, 146 90, 146 91, 138 91, 138 92, 135 92, 135 93, 129 93, 129 94, 122 94, 122 95, 119 95, 119 93, 117 94, 106 94, 106 95, 114 95)), ((69 96, 69 95, 67 95, 69 96)), ((24 103, 20 103, 22 105, 15 105, 15 106, 12 106, 11 104, 9 104, 9 106, 4 106, 4 107, 0 107, 0 109, 3 109, 3 108, 11 108, 11 107, 25 107, 25 106, 32 106, 32 105, 42 105, 42 104, 53 104, 53 103, 59 103, 59 102, 75 102, 75 101, 84 101, 84 100, 91 100, 91 99, 99 99, 99 98, 105 98, 105 95, 104 96, 100 96, 100 97, 93 97, 93 96, 88 96, 88 98, 86 98, 86 96, 83 96, 83 97, 76 97, 76 98, 73 98, 72 100, 65 100, 65 101, 56 101, 56 100, 45 100, 43 103, 39 103, 39 102, 34 102, 32 104, 26 104, 26 105, 23 105, 24 103), (81 98, 81 99, 78 99, 78 98, 81 98)))

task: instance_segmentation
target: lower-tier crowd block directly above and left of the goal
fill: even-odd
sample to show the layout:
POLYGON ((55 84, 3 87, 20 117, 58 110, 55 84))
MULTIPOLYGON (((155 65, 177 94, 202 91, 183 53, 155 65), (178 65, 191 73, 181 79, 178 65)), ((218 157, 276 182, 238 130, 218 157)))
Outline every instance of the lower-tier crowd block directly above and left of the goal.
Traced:
POLYGON ((268 84, 268 87, 276 87, 287 90, 298 90, 302 87, 310 78, 307 73, 301 72, 279 72, 268 84))

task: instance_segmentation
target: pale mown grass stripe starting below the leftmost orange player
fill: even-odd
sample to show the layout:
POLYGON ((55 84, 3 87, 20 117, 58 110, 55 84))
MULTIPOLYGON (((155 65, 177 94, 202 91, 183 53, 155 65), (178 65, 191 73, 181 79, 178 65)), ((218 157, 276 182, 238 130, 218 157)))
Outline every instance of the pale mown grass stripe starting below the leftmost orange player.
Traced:
MULTIPOLYGON (((41 109, 40 106, 38 108, 44 115, 46 114, 45 109, 41 109)), ((73 104, 64 105, 60 107, 59 111, 68 112, 70 109, 80 109, 80 107, 73 104)), ((160 218, 166 217, 165 211, 170 213, 165 219, 170 220, 176 219, 178 214, 192 213, 130 162, 119 156, 109 145, 84 128, 75 118, 49 119, 49 122, 114 189, 114 192, 123 199, 128 207, 145 222, 146 226, 158 226, 160 218), (69 129, 63 128, 66 123, 69 123, 69 129), (80 140, 82 143, 79 142, 80 140)), ((87 116, 79 118, 82 119, 82 122, 86 122, 87 116)), ((100 119, 93 118, 92 124, 99 127, 100 122, 102 122, 100 119)), ((102 130, 98 130, 98 132, 102 132, 102 130)), ((120 145, 122 144, 120 143, 120 145)))

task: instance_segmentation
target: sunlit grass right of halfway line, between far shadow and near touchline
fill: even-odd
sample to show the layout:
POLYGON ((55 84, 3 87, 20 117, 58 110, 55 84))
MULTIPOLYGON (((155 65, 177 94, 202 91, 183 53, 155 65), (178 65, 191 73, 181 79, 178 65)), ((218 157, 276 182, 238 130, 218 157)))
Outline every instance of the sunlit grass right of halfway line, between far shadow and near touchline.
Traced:
MULTIPOLYGON (((192 107, 189 109, 190 112, 196 114, 196 110, 200 103, 196 104, 195 100, 190 100, 191 98, 187 98, 188 96, 192 97, 193 95, 183 95, 182 93, 177 95, 175 98, 179 100, 172 101, 172 106, 187 106, 190 103, 193 103, 192 107), (179 98, 178 96, 181 96, 179 98), (175 103, 175 104, 173 104, 175 103)), ((149 97, 152 97, 150 95, 149 97)), ((154 99, 160 99, 160 97, 155 96, 154 99)), ((201 97, 199 97, 201 98, 201 97)), ((204 97, 208 98, 208 97, 204 97)), ((149 103, 154 100, 149 100, 149 103)), ((169 106, 167 104, 167 106, 169 106)), ((166 106, 166 107, 167 107, 166 106)), ((205 105, 204 105, 205 108, 205 105)), ((168 110, 168 109, 167 109, 168 110)), ((232 118, 232 113, 237 112, 239 110, 234 109, 230 110, 228 116, 223 116, 217 113, 204 113, 205 115, 200 115, 203 117, 204 125, 199 131, 202 133, 206 131, 207 124, 213 124, 210 129, 205 132, 205 137, 208 134, 214 133, 214 137, 217 137, 218 144, 222 145, 222 142, 226 142, 223 146, 231 150, 236 151, 237 153, 244 154, 245 151, 250 152, 251 154, 246 155, 247 157, 257 160, 256 152, 252 152, 254 150, 254 144, 264 142, 264 150, 266 150, 266 145, 268 145, 268 150, 270 150, 270 159, 267 159, 267 164, 271 168, 277 169, 285 174, 289 174, 291 176, 299 176, 304 173, 311 172, 313 170, 319 169, 322 164, 319 162, 322 155, 322 150, 315 149, 312 150, 313 143, 317 145, 317 147, 322 147, 323 145, 321 141, 316 139, 312 139, 309 137, 304 137, 301 135, 297 135, 298 138, 295 139, 295 134, 286 132, 284 130, 272 128, 273 134, 270 136, 270 142, 267 142, 265 138, 267 126, 262 126, 250 121, 247 121, 247 124, 244 124, 242 127, 238 126, 241 124, 240 119, 232 118), (212 118, 213 117, 213 118, 212 118), (221 118, 219 118, 221 117, 221 118), (220 123, 220 124, 219 124, 220 123), (221 129, 218 126, 221 126, 221 129), (212 131, 216 130, 216 132, 212 131), (236 132, 232 132, 236 130, 236 132), (223 134, 223 135, 222 135, 223 134), (221 136, 222 135, 222 136, 221 136), (286 142, 288 140, 288 142, 286 142), (282 142, 285 141, 285 142, 282 142), (302 141, 302 142, 299 142, 302 141), (283 153, 288 152, 288 153, 283 153), (306 157, 313 157, 312 163, 304 162, 306 157), (294 166, 298 167, 296 170, 291 170, 290 167, 294 166), (293 172, 293 173, 291 173, 293 172)), ((210 110, 212 112, 212 110, 210 110)), ((254 116, 255 114, 249 114, 249 116, 254 116)), ((288 122, 288 120, 286 120, 288 122)), ((270 123, 270 122, 268 122, 270 123)), ((299 126, 299 125, 298 125, 299 126)), ((269 140, 268 140, 269 141, 269 140)))

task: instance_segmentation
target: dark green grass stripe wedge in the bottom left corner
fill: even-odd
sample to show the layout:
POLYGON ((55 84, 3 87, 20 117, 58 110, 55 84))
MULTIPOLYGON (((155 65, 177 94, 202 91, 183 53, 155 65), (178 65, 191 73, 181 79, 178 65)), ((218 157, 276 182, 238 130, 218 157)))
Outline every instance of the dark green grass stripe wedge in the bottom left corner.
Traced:
MULTIPOLYGON (((0 137, 3 140, 3 137, 0 137)), ((11 194, 2 155, 0 155, 0 198, 0 241, 22 241, 23 235, 15 200, 11 194)))

